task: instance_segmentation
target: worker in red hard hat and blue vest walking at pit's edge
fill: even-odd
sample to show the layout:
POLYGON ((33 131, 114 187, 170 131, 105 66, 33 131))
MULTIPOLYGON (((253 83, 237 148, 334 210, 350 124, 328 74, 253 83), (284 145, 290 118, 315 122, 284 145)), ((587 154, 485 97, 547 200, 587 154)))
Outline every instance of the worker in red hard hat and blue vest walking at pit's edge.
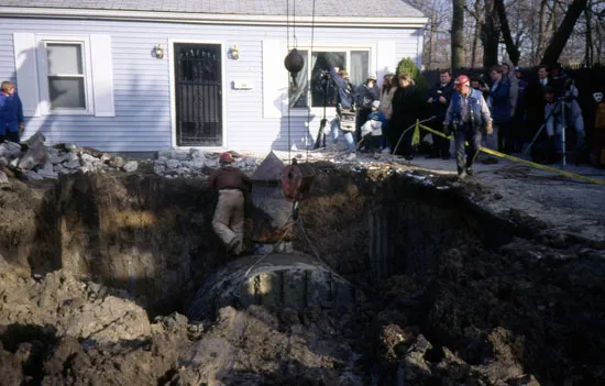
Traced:
POLYGON ((480 147, 482 132, 492 134, 492 115, 480 90, 471 87, 466 75, 454 81, 454 92, 443 121, 443 132, 454 131, 455 164, 458 176, 463 179, 473 175, 473 162, 480 147), (465 154, 465 142, 469 142, 469 154, 465 154))

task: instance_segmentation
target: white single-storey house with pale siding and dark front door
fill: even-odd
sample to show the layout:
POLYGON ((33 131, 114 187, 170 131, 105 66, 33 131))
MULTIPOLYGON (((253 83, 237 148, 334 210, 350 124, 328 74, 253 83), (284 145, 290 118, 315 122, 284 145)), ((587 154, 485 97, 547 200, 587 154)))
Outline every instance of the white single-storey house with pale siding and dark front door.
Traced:
MULTIPOLYGON (((108 152, 306 148, 323 114, 321 70, 337 64, 361 84, 403 57, 420 66, 427 23, 403 0, 1 5, 0 79, 16 84, 24 136, 108 152), (305 68, 289 87, 294 47, 305 68)), ((327 104, 330 118, 331 92, 327 104)))

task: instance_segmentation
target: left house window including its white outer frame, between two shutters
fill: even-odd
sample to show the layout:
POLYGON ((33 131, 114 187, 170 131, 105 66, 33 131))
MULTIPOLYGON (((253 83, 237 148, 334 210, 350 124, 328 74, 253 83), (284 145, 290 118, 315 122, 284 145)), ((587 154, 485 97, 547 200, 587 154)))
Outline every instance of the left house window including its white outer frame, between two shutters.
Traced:
POLYGON ((38 36, 37 44, 42 111, 94 113, 89 38, 38 36))

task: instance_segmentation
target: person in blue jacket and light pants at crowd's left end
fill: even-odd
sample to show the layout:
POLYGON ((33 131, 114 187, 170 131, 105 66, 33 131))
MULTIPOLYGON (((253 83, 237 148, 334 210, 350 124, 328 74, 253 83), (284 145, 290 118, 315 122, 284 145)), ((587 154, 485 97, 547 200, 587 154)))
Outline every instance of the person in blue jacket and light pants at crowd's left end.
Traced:
POLYGON ((349 79, 349 73, 339 67, 330 68, 330 76, 337 85, 337 117, 331 123, 332 139, 334 144, 338 142, 340 131, 344 132, 346 148, 355 151, 355 88, 349 79))

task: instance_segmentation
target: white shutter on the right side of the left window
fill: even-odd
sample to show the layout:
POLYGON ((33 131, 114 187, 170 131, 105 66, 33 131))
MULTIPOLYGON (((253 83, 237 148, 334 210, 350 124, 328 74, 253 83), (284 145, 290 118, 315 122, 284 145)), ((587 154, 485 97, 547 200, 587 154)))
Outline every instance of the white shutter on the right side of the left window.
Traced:
POLYGON ((90 35, 90 58, 95 115, 116 117, 110 35, 90 35))

